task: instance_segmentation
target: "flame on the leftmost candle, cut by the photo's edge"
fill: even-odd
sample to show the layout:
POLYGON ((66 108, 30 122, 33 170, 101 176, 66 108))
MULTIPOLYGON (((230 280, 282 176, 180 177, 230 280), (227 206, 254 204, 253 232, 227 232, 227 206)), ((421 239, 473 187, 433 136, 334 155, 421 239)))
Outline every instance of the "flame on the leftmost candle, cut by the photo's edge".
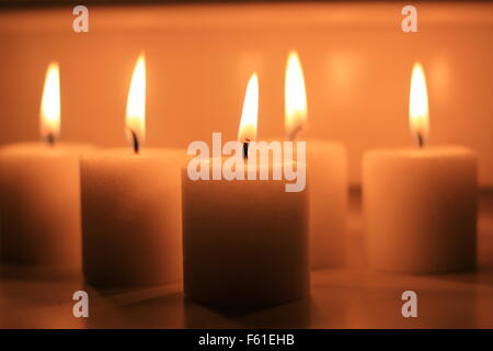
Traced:
POLYGON ((58 63, 50 63, 46 70, 39 114, 41 134, 53 144, 60 133, 60 73, 58 63))

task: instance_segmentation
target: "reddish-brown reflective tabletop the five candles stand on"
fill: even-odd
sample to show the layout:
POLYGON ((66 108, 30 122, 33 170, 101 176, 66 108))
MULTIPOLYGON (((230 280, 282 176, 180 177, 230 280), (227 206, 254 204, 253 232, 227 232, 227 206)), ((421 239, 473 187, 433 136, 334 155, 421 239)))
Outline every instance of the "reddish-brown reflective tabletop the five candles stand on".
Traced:
POLYGON ((101 291, 81 276, 46 281, 3 267, 0 328, 493 328, 493 192, 480 195, 475 272, 400 275, 365 268, 360 196, 352 191, 344 268, 312 272, 311 298, 256 310, 220 310, 184 298, 181 284, 101 291), (74 318, 73 292, 89 293, 74 318), (401 294, 417 293, 417 318, 401 294))

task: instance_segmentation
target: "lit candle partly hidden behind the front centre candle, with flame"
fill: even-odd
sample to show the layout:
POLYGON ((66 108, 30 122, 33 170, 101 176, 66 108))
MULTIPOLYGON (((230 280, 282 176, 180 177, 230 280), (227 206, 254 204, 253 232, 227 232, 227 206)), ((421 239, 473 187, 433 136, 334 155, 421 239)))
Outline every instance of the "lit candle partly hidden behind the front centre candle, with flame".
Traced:
MULTIPOLYGON (((308 118, 303 72, 296 52, 286 66, 285 127, 293 140, 308 118)), ((347 160, 341 143, 307 139, 310 195, 310 260, 312 269, 341 265, 344 261, 347 160)))

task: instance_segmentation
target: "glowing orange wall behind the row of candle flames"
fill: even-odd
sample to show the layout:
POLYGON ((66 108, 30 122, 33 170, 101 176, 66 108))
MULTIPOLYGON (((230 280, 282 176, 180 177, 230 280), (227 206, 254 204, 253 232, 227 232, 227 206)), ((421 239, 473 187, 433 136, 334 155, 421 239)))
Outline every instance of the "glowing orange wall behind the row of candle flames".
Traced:
POLYGON ((493 4, 423 3, 419 33, 401 31, 404 2, 89 7, 0 12, 0 144, 39 138, 46 68, 59 63, 61 140, 125 146, 125 112, 138 56, 147 70, 146 145, 236 139, 245 87, 259 73, 259 139, 284 135, 289 49, 307 86, 308 136, 345 143, 353 183, 362 152, 414 146, 411 70, 426 72, 428 144, 478 150, 493 185, 493 4))

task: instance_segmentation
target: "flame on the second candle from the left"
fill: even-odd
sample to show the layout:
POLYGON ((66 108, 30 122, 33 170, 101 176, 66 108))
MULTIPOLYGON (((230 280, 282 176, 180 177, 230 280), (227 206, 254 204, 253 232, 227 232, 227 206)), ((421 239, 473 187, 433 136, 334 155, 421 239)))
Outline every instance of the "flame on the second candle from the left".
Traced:
MULTIPOLYGON (((137 59, 131 76, 127 99, 126 127, 129 132, 127 133, 129 140, 134 144, 144 141, 146 136, 146 58, 144 54, 137 59)), ((138 151, 138 146, 136 151, 138 151)))

